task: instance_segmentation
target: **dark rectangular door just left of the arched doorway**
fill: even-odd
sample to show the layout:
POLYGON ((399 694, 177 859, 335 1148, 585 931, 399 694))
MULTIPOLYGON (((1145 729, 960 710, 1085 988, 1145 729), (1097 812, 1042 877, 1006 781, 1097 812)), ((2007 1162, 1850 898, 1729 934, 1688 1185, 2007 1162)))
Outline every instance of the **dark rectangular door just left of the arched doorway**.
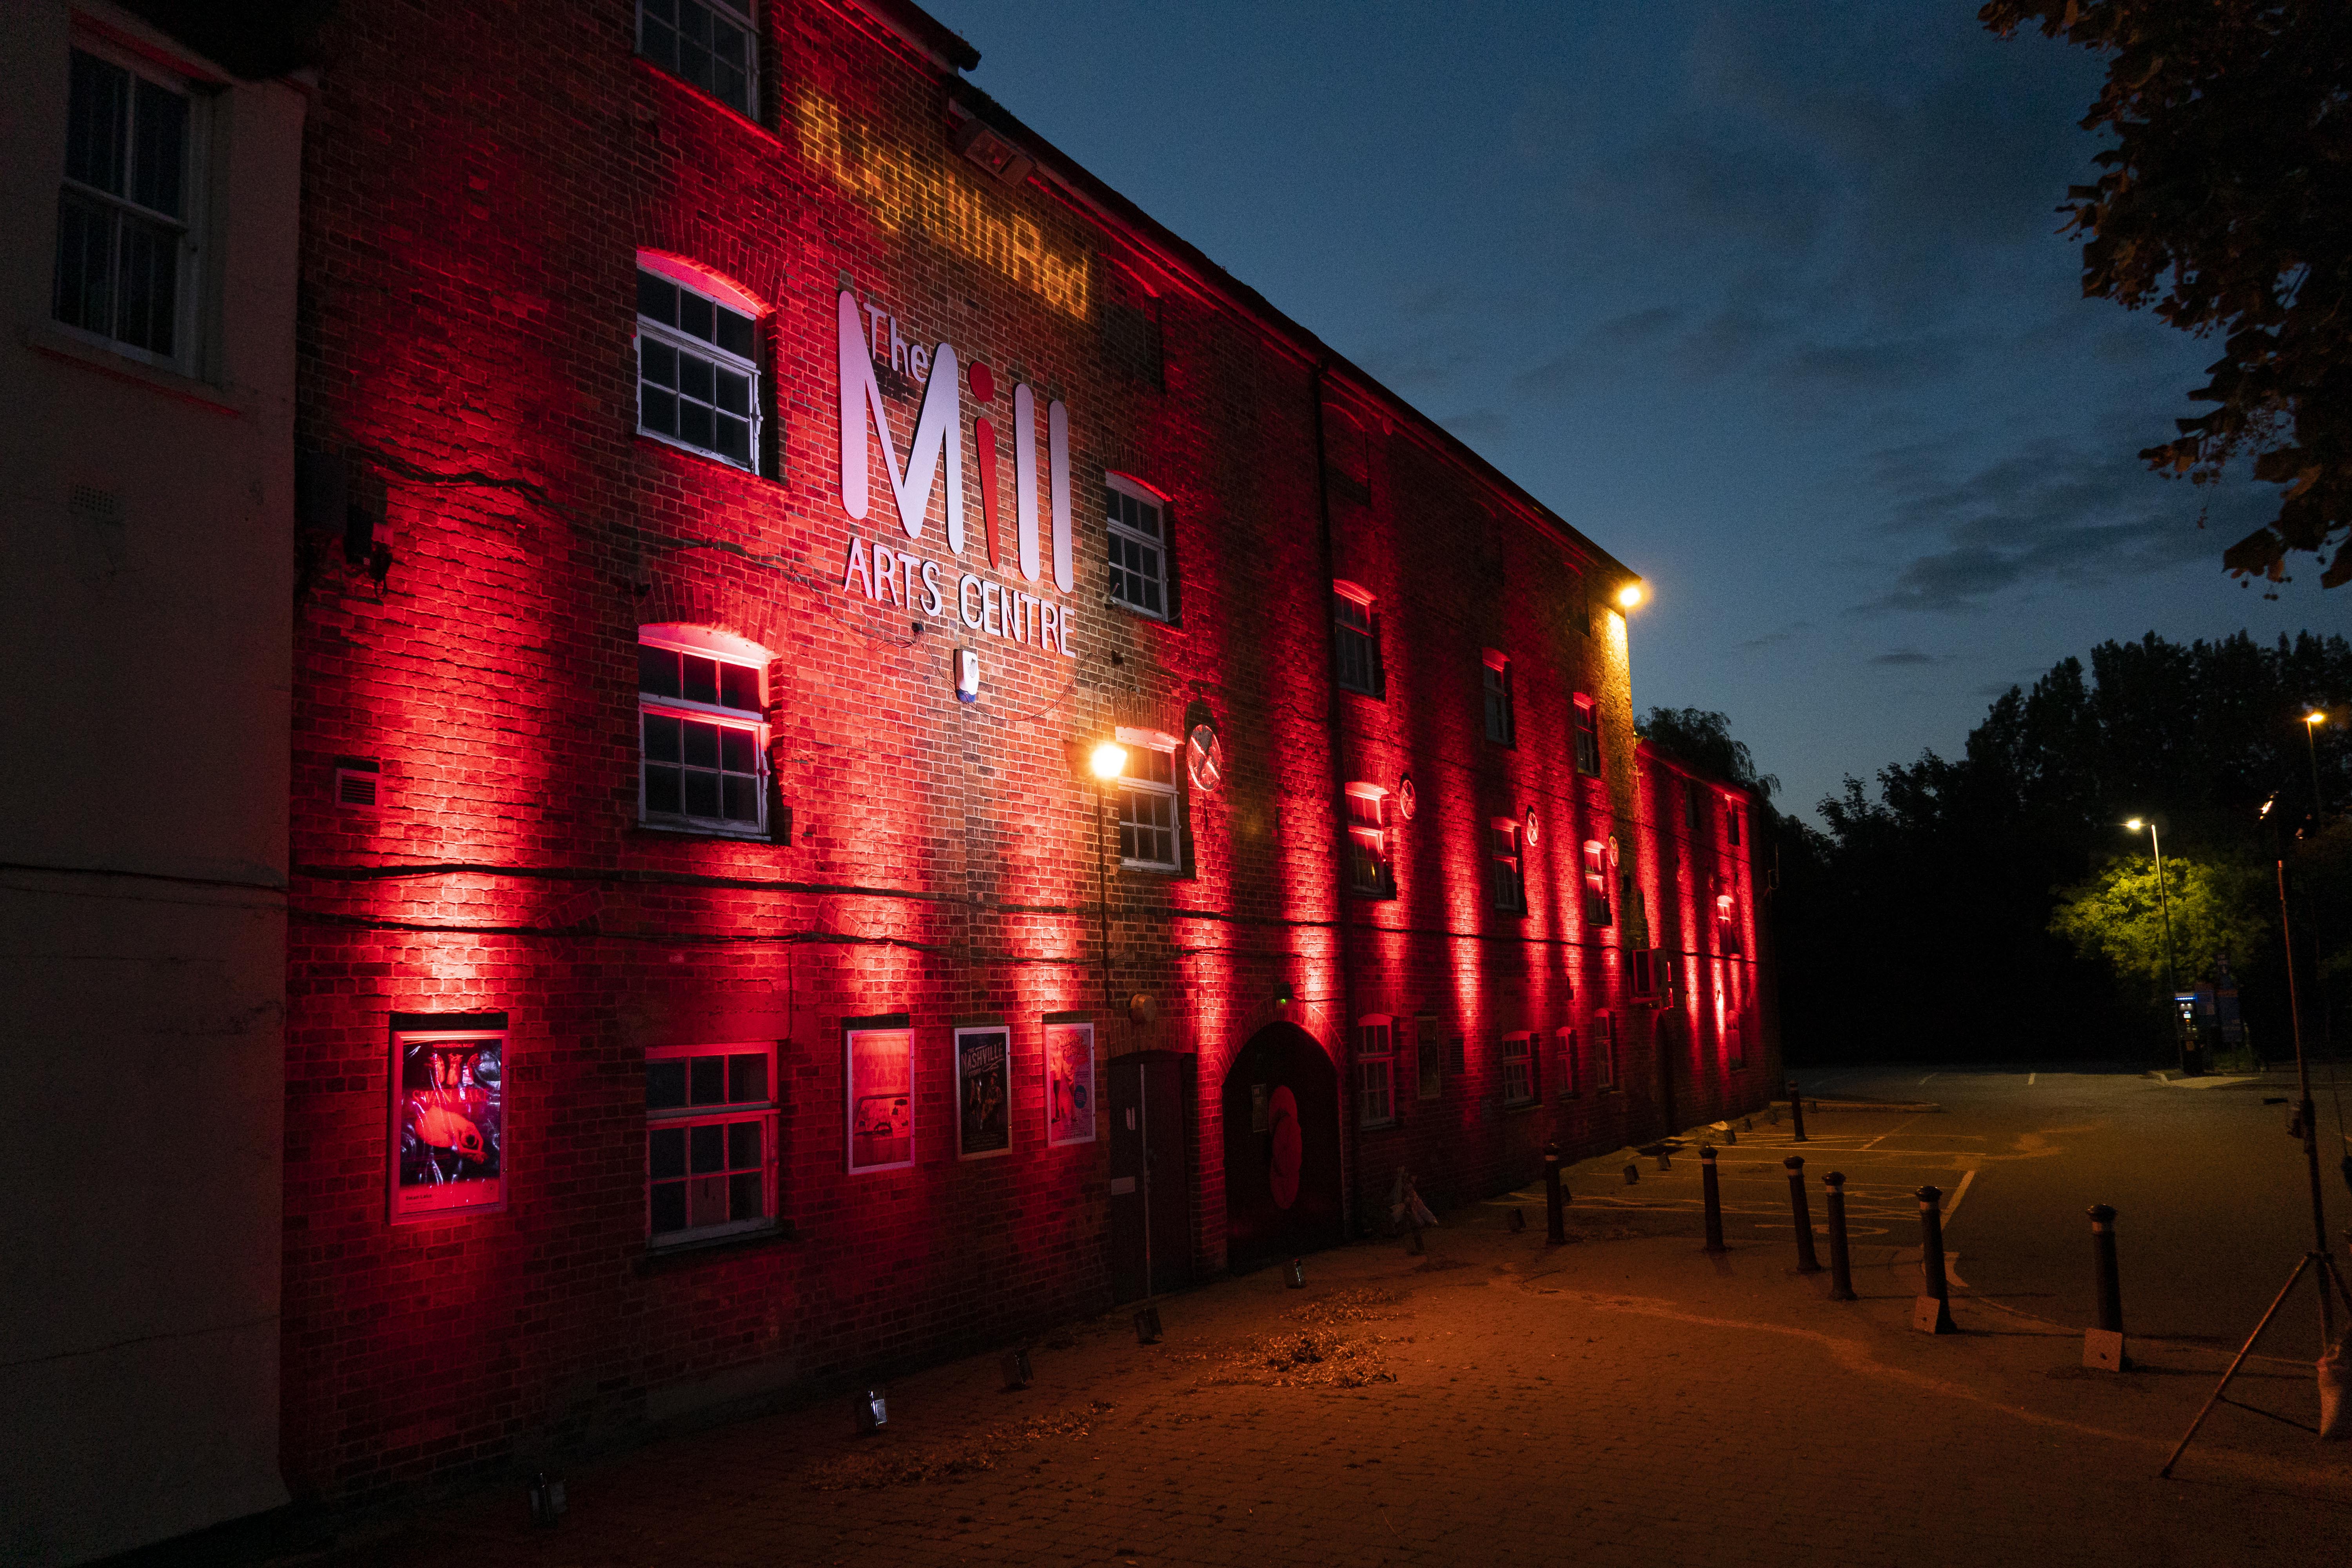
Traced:
POLYGON ((1108 1079, 1110 1300, 1131 1302, 1192 1281, 1192 1058, 1122 1056, 1110 1060, 1108 1079))

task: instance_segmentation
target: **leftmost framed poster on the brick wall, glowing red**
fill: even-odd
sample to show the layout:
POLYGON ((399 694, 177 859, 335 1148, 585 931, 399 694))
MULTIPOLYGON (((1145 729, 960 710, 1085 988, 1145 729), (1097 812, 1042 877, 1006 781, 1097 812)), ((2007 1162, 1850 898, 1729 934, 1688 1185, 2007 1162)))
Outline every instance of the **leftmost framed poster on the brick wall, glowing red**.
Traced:
POLYGON ((393 1034, 393 1222, 506 1206, 506 1034, 393 1034))

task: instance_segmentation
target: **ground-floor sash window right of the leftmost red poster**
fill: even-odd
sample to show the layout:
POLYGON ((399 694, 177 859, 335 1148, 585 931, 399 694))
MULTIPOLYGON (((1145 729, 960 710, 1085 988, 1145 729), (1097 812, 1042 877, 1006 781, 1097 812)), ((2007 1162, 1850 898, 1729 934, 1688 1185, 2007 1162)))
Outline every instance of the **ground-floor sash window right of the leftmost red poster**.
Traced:
POLYGON ((776 1222, 776 1046, 644 1053, 644 1234, 656 1246, 776 1222))

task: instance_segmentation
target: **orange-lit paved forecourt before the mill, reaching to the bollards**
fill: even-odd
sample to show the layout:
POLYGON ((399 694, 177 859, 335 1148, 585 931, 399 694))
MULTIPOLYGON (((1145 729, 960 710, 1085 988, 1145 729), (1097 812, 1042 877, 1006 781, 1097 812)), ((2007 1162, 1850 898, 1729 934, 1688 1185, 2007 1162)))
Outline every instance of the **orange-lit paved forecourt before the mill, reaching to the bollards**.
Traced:
POLYGON ((1472 1204, 1418 1258, 1367 1241, 1308 1258, 1303 1291, 1261 1269, 1162 1298, 1160 1345, 1131 1309, 1075 1324, 1023 1392, 974 1356, 891 1382, 877 1436, 830 1399, 579 1465, 555 1530, 515 1486, 332 1561, 2347 1561, 2352 1443, 2307 1432, 2310 1363, 2232 1385, 2305 1429, 2223 1406, 2159 1481, 2220 1347, 2136 1340, 2145 1371, 2091 1373, 2079 1326, 1962 1291, 1962 1335, 1915 1333, 1915 1248, 1863 1248, 1863 1300, 1830 1302, 1790 1241, 1708 1258, 1689 1211, 1689 1234, 1569 1213, 1588 1239, 1545 1246, 1541 1190, 1472 1204))

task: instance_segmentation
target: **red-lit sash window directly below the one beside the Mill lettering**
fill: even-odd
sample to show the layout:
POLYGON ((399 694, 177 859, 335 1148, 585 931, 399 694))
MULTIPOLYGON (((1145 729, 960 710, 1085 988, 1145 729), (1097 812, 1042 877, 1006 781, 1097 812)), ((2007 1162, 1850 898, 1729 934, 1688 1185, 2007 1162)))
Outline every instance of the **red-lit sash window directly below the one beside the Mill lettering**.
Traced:
POLYGON ((637 632, 640 820, 767 832, 767 654, 699 628, 637 632))

